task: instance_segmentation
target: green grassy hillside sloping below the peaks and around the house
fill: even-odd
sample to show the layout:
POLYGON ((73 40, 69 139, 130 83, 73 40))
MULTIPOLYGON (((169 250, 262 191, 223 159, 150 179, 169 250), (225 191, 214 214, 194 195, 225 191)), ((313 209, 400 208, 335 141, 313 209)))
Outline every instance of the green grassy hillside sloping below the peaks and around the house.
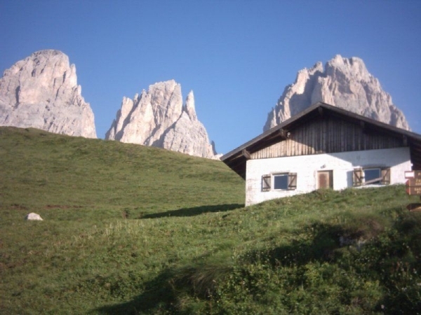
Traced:
POLYGON ((0 161, 0 314, 421 309, 403 186, 244 208, 222 162, 6 127, 0 161))

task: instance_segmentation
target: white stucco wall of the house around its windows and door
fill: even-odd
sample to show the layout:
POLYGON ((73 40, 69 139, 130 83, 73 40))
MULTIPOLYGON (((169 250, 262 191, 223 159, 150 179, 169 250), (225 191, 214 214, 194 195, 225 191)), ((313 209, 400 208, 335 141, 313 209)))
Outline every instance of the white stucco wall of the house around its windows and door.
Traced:
POLYGON ((333 171, 334 190, 352 187, 352 172, 358 167, 390 167, 390 183, 405 183, 404 172, 412 169, 409 148, 248 160, 246 206, 316 190, 319 171, 333 171), (297 189, 262 192, 262 175, 276 173, 297 173, 297 189))

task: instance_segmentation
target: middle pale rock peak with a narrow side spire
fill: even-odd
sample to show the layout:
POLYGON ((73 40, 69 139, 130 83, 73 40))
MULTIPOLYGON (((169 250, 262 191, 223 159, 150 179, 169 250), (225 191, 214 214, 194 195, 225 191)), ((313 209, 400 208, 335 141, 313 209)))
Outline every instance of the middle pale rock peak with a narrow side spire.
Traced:
POLYGON ((143 90, 133 99, 123 97, 105 139, 217 158, 205 127, 197 119, 193 92, 183 105, 181 86, 175 80, 149 85, 147 92, 143 90))

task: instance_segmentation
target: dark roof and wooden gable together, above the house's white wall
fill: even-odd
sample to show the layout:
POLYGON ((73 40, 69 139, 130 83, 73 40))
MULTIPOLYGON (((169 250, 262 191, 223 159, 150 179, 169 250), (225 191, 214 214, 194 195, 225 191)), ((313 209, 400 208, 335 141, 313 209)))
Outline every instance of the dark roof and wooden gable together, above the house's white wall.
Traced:
POLYGON ((421 169, 421 135, 325 103, 316 103, 222 156, 246 179, 246 161, 283 156, 409 147, 421 169))

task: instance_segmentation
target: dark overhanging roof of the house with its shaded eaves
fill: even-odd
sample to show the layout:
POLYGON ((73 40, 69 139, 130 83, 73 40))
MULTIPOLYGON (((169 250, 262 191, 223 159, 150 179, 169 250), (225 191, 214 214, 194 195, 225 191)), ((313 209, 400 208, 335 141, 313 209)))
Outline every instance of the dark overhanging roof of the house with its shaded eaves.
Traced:
POLYGON ((239 176, 246 179, 246 161, 250 158, 249 153, 254 153, 278 142, 279 135, 283 135, 285 130, 293 130, 295 127, 298 127, 298 125, 320 117, 322 113, 323 116, 326 114, 352 123, 363 123, 367 127, 370 127, 371 130, 382 132, 383 134, 390 134, 394 137, 406 137, 406 141, 410 148, 410 158, 413 163, 413 169, 421 169, 421 134, 415 134, 414 132, 410 132, 408 130, 380 123, 377 120, 373 120, 322 102, 313 104, 301 113, 298 113, 298 115, 283 121, 281 124, 263 132, 258 137, 255 137, 238 148, 235 148, 233 151, 223 155, 221 160, 234 170, 234 172, 239 174, 239 176))

